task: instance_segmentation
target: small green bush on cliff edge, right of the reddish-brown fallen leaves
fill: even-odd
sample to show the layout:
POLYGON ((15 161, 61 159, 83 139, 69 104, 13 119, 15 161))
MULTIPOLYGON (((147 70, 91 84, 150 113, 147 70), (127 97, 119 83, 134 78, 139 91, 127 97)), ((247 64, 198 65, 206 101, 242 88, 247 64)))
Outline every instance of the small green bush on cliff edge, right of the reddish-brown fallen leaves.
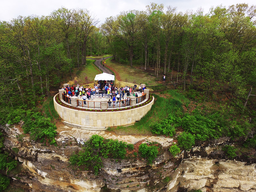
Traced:
POLYGON ((148 146, 146 143, 142 143, 139 146, 139 152, 143 158, 148 159, 149 164, 152 164, 158 155, 158 147, 155 145, 148 146))

